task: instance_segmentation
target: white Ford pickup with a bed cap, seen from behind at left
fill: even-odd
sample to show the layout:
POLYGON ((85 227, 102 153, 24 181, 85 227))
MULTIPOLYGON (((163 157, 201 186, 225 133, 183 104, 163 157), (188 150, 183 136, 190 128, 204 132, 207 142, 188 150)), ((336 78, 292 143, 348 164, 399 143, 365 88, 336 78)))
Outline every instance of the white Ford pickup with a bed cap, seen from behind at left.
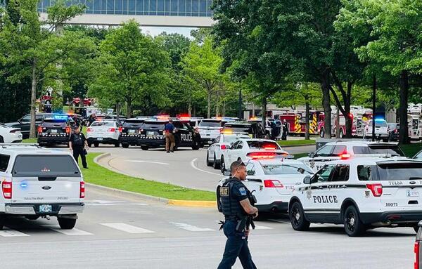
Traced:
POLYGON ((72 229, 84 210, 85 183, 68 151, 30 144, 0 144, 0 228, 6 218, 56 216, 72 229))

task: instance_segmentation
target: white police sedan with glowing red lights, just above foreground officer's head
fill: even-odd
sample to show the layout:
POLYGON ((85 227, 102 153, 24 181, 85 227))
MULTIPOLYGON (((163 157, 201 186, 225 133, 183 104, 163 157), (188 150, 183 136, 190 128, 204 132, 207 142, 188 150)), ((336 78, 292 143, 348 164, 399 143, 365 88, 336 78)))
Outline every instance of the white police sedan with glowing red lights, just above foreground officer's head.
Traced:
POLYGON ((222 173, 229 169, 230 164, 237 161, 238 159, 245 160, 251 159, 252 157, 258 156, 269 156, 271 155, 288 156, 288 152, 284 151, 279 144, 274 140, 268 139, 257 139, 257 138, 242 138, 237 140, 229 150, 222 151, 220 157, 220 170, 222 173))

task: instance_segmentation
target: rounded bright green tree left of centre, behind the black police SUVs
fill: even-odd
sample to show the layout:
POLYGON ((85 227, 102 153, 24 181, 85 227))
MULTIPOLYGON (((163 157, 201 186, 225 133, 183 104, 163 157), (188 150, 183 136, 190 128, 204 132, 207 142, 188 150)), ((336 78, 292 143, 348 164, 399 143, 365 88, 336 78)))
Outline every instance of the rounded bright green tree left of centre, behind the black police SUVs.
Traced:
POLYGON ((98 98, 103 105, 126 103, 127 117, 132 117, 134 103, 145 110, 151 103, 168 103, 165 91, 169 83, 169 55, 152 37, 142 34, 134 20, 106 35, 96 65, 89 96, 98 98))

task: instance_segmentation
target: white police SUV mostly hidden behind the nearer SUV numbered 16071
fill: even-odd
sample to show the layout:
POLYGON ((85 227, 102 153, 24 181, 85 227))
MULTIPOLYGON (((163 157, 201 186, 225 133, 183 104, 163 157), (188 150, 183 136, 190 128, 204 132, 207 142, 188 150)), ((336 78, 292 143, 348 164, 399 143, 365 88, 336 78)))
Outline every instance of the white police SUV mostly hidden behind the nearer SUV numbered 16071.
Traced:
POLYGON ((299 158, 314 171, 321 169, 327 162, 348 157, 404 157, 400 147, 392 143, 370 141, 335 141, 326 143, 308 157, 299 158))

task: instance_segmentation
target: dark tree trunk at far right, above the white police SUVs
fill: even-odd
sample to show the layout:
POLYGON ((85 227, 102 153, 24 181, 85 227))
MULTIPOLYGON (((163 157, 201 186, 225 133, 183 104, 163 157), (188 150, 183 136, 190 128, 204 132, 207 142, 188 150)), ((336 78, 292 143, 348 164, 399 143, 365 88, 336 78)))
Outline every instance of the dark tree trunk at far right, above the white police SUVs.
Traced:
POLYGON ((400 87, 399 144, 402 145, 402 144, 409 143, 409 126, 407 125, 407 100, 408 100, 408 94, 409 94, 409 75, 407 74, 406 70, 402 71, 402 73, 400 74, 399 87, 400 87))

